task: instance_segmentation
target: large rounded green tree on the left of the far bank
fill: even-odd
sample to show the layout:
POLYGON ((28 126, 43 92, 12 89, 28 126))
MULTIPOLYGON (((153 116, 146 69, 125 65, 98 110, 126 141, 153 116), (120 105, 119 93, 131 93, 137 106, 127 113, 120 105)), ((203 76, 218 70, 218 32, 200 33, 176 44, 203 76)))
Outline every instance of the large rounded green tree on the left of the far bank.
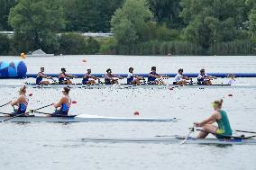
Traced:
POLYGON ((65 28, 59 0, 20 0, 11 9, 8 22, 15 33, 29 42, 29 50, 44 49, 47 52, 59 48, 57 33, 65 28))

